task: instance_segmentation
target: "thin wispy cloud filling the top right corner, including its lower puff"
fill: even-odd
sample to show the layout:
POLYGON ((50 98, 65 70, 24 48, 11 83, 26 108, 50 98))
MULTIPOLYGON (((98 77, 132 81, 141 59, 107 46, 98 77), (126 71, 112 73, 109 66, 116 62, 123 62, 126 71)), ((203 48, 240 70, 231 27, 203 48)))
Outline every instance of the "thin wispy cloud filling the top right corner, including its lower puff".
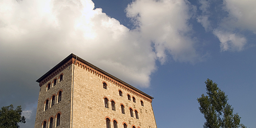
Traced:
POLYGON ((202 15, 197 17, 198 23, 201 23, 205 31, 212 31, 220 40, 221 51, 242 51, 247 45, 245 30, 256 33, 256 1, 223 0, 223 3, 199 0, 202 15), (214 13, 220 13, 220 10, 210 10, 210 6, 222 6, 222 11, 227 12, 226 16, 216 16, 214 13), (217 11, 217 12, 216 12, 217 11), (216 16, 216 17, 210 17, 216 16), (222 17, 220 21, 217 19, 222 17), (211 20, 209 20, 211 19, 211 20), (217 21, 214 21, 217 20, 217 21), (216 22, 217 26, 212 29, 211 22, 216 22))

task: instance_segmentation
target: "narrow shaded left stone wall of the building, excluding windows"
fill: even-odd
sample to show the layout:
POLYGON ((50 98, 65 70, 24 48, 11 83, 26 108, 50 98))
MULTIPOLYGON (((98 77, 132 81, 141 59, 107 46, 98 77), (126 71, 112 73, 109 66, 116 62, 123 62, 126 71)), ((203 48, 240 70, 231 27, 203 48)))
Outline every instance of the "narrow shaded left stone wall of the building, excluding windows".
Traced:
POLYGON ((72 86, 72 65, 56 74, 52 79, 40 87, 35 128, 41 128, 42 123, 46 121, 46 127, 49 127, 50 118, 53 117, 53 127, 56 125, 57 113, 60 113, 60 124, 58 127, 70 127, 71 117, 71 86, 72 86), (63 74, 63 80, 58 82, 58 77, 63 74), (53 87, 53 80, 57 78, 57 83, 53 87), (47 85, 51 83, 50 90, 47 91, 47 85), (61 101, 58 101, 58 92, 61 93, 61 101), (55 103, 51 106, 51 97, 55 95, 55 103), (45 101, 49 99, 48 110, 45 111, 45 101))

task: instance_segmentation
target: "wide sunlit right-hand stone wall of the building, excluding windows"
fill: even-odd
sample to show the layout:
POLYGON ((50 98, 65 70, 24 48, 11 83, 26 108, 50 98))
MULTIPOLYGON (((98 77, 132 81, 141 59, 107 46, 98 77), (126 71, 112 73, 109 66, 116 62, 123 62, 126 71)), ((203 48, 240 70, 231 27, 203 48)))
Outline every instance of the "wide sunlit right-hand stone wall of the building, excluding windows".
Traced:
POLYGON ((73 127, 106 127, 105 118, 110 118, 111 127, 113 120, 118 122, 118 127, 123 127, 123 123, 127 127, 133 125, 138 127, 156 128, 155 117, 151 105, 151 101, 146 101, 138 97, 130 91, 124 90, 122 86, 117 86, 112 81, 99 77, 92 70, 86 70, 82 67, 75 66, 74 72, 74 113, 73 127), (107 84, 107 89, 103 89, 103 82, 107 84), (119 90, 122 91, 122 97, 119 96, 119 90), (127 99, 127 94, 136 98, 127 99), (109 99, 109 108, 104 106, 104 97, 109 99), (115 102, 116 111, 111 108, 111 101, 115 102), (143 101, 144 106, 141 105, 143 101), (121 105, 124 105, 125 114, 121 113, 121 105), (130 116, 129 108, 133 109, 134 117, 130 116), (138 112, 139 119, 135 117, 135 110, 138 112))

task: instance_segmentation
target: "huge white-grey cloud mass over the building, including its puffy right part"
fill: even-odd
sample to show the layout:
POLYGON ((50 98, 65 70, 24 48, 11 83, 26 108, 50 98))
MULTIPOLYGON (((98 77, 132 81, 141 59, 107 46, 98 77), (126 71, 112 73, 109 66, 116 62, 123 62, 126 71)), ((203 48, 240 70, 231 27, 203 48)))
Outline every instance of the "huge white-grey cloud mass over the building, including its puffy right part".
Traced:
POLYGON ((0 57, 6 60, 0 75, 40 76, 34 72, 38 67, 45 72, 74 53, 134 86, 148 87, 157 58, 162 63, 168 54, 177 61, 200 59, 190 37, 190 11, 187 1, 134 1, 127 16, 140 25, 130 30, 90 0, 0 1, 0 53, 8 54, 0 57))

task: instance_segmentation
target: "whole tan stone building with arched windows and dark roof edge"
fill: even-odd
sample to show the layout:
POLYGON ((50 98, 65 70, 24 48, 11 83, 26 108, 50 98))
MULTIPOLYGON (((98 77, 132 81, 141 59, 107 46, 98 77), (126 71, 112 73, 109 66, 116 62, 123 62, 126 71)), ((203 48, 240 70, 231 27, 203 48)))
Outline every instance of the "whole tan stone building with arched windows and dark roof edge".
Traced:
POLYGON ((36 81, 36 128, 157 128, 153 97, 74 54, 36 81))

